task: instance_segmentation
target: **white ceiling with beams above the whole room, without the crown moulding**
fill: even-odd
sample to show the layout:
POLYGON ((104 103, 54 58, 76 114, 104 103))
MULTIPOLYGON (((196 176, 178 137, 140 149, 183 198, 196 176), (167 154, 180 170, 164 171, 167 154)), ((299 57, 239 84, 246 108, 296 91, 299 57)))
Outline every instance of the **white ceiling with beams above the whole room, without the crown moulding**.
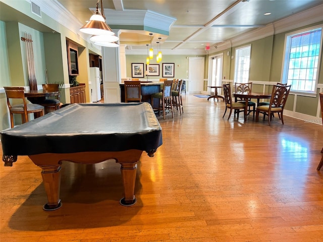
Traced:
MULTIPOLYGON (((81 23, 85 24, 95 8, 96 0, 58 0, 81 23)), ((154 33, 152 44, 161 37, 161 49, 205 49, 248 31, 292 16, 322 4, 318 0, 103 0, 107 24, 116 23, 115 15, 124 23, 133 11, 152 11, 174 19, 169 35, 154 33), (264 15, 264 13, 271 13, 264 15)), ((100 5, 99 5, 100 7, 100 5)), ((121 30, 120 42, 129 49, 146 49, 150 31, 121 30)))

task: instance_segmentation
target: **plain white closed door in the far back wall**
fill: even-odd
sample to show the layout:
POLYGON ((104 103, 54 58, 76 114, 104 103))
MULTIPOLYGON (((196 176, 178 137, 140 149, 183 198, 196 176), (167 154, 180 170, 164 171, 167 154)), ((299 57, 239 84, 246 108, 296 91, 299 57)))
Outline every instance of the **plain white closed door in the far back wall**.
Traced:
POLYGON ((188 58, 188 92, 199 94, 203 91, 204 57, 188 58))

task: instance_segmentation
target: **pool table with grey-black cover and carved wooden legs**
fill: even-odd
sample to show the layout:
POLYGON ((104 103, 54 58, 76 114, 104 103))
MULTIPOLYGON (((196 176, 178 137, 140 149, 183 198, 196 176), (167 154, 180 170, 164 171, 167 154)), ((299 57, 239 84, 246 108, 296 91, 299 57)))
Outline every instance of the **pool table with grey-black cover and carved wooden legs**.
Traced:
POLYGON ((48 203, 56 210, 60 200, 62 161, 83 164, 115 159, 121 164, 124 198, 136 203, 137 162, 143 151, 153 157, 163 144, 161 128, 149 103, 75 103, 0 133, 3 161, 12 166, 18 155, 28 155, 42 171, 48 203))

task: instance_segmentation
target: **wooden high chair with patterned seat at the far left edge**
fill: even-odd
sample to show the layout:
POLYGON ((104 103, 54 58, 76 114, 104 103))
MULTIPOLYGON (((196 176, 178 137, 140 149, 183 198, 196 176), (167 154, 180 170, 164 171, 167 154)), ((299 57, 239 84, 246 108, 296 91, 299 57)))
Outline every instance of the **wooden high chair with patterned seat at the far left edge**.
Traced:
POLYGON ((25 98, 25 88, 24 87, 4 87, 7 104, 10 112, 10 123, 11 128, 14 128, 14 113, 20 113, 22 123, 29 121, 28 113, 39 113, 40 116, 44 115, 44 107, 39 104, 27 103, 25 98), (10 101, 12 99, 22 99, 23 103, 12 105, 10 101))

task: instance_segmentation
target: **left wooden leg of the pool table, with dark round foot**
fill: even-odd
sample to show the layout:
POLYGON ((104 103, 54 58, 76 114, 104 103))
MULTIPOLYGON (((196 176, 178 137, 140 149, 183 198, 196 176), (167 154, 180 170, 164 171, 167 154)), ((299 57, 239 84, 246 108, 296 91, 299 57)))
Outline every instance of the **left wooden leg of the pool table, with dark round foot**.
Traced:
POLYGON ((48 203, 43 206, 46 211, 56 210, 62 206, 60 197, 61 166, 40 166, 41 176, 47 194, 48 203))

